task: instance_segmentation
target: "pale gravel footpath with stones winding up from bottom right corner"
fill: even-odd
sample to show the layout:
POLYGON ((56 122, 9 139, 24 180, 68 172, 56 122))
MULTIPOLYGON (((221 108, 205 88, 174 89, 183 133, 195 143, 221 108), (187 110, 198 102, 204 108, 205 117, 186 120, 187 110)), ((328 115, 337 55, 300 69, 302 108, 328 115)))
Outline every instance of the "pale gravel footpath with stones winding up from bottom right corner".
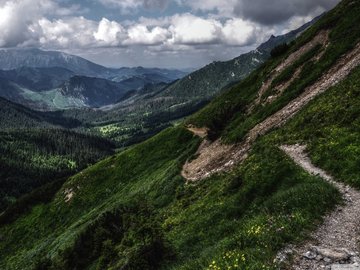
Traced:
MULTIPOLYGON (((329 214, 324 223, 311 235, 311 241, 296 247, 287 248, 287 254, 294 254, 290 269, 360 269, 360 192, 350 186, 334 181, 325 171, 315 167, 307 157, 305 146, 281 146, 291 159, 304 170, 319 175, 339 189, 345 204, 329 214)), ((284 256, 280 252, 278 259, 284 256)))

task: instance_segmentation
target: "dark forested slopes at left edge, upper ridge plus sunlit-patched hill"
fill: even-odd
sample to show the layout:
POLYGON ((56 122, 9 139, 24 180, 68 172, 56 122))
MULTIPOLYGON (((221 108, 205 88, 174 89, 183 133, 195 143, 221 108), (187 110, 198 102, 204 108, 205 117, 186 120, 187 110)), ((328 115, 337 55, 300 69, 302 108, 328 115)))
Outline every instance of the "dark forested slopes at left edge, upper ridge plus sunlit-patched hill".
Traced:
POLYGON ((34 188, 113 154, 111 142, 69 131, 79 125, 0 98, 0 212, 34 188))

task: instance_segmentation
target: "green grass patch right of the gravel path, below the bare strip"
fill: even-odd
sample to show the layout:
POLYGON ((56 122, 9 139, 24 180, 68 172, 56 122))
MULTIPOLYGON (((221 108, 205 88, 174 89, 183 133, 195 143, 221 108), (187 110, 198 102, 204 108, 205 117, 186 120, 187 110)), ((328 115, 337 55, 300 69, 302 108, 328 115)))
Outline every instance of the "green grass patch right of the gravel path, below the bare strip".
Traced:
POLYGON ((312 101, 272 134, 272 142, 303 142, 313 162, 336 179, 360 188, 360 68, 312 101))

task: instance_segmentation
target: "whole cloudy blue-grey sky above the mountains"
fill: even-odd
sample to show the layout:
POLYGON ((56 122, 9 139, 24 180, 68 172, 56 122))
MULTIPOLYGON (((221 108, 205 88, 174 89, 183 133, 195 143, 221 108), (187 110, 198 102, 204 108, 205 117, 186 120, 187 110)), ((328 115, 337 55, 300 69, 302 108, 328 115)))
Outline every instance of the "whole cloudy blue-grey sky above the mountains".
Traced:
POLYGON ((198 68, 294 30, 340 0, 0 0, 0 48, 109 67, 198 68))

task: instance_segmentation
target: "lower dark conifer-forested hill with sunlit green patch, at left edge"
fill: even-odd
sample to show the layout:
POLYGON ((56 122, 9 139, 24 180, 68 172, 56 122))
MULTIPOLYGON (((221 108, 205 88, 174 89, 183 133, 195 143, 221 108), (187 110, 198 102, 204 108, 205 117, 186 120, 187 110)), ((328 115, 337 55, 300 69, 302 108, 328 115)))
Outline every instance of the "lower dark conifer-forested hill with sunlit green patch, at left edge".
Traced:
POLYGON ((63 129, 0 132, 0 211, 19 196, 113 153, 109 141, 63 129))

